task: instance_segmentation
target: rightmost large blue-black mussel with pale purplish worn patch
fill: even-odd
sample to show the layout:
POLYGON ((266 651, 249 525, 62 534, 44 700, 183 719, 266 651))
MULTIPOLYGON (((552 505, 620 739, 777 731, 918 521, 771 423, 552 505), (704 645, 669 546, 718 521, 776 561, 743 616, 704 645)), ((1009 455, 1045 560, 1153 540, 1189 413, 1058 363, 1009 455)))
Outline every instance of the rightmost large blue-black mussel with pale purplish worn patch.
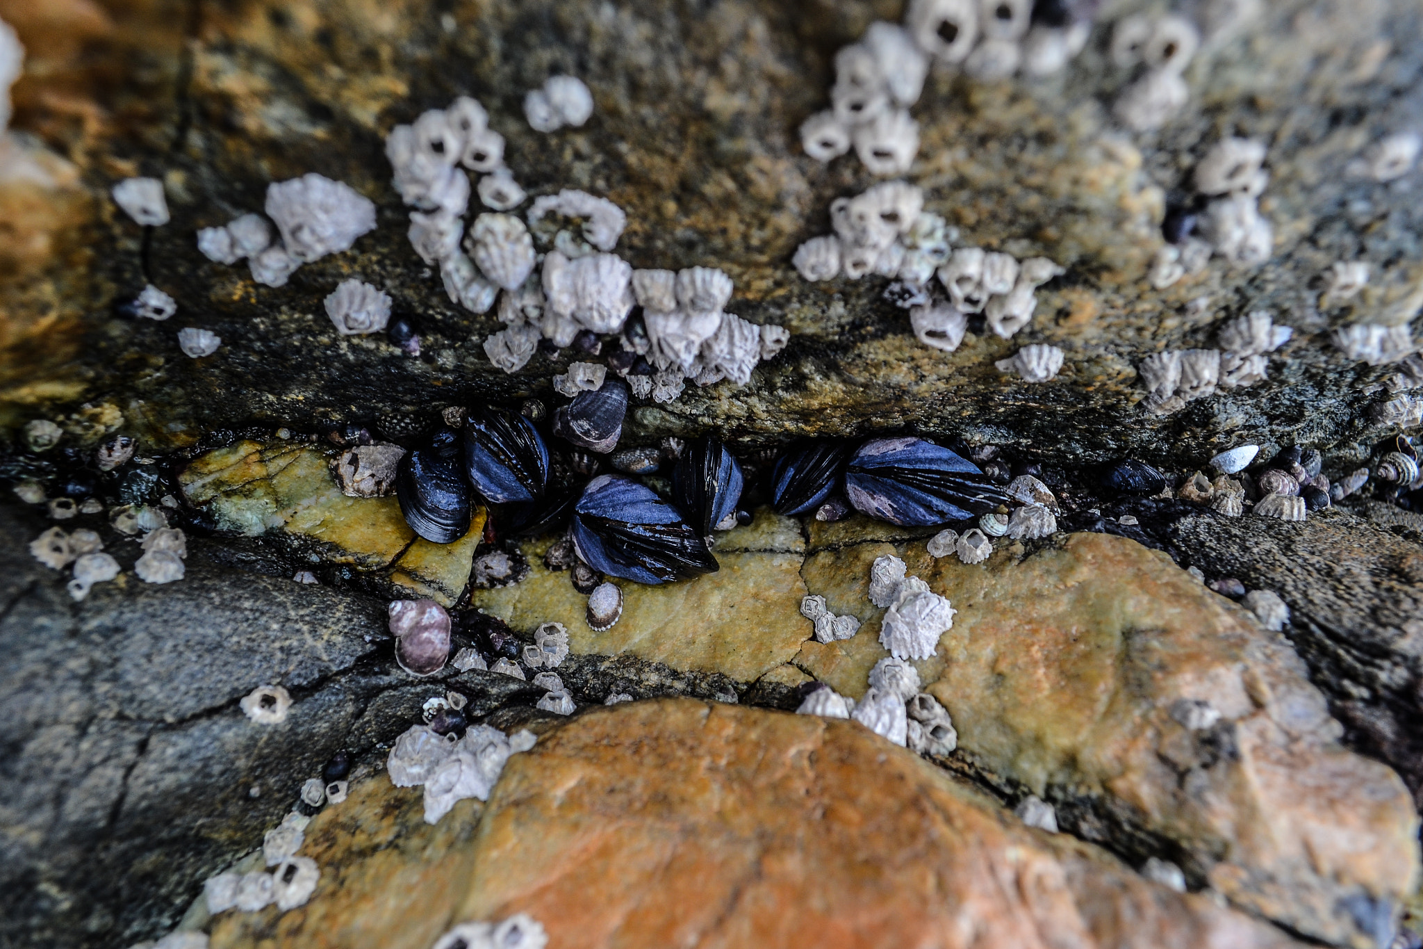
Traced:
POLYGON ((861 514, 909 526, 963 521, 1007 502, 978 465, 924 438, 874 438, 845 467, 861 514))

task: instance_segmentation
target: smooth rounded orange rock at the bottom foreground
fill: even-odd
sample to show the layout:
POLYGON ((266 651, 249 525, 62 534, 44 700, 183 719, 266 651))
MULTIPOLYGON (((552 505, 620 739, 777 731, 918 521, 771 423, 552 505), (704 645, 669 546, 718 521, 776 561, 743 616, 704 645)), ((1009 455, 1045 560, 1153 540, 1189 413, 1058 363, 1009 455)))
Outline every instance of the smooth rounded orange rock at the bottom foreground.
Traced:
POLYGON ((482 815, 461 802, 425 828, 417 802, 380 777, 353 790, 307 829, 303 852, 339 868, 307 909, 228 913, 213 949, 424 949, 448 922, 515 911, 575 949, 1299 945, 1025 828, 844 720, 619 704, 511 757, 482 815))

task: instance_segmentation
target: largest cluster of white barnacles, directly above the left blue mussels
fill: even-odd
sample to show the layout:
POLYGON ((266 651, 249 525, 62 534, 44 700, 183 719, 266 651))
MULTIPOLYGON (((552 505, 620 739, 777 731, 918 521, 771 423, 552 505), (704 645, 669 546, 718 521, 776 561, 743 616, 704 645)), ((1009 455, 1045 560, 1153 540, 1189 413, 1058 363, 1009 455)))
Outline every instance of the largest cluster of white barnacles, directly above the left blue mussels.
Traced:
MULTIPOLYGON (((582 83, 555 80, 525 100, 529 122, 539 131, 581 125, 592 110, 582 83), (562 118, 554 124, 545 112, 562 118)), ((423 209, 410 215, 410 240, 427 263, 438 263, 450 299, 485 313, 504 292, 497 310, 504 329, 484 341, 484 351, 507 373, 522 369, 541 341, 598 354, 599 337, 616 334, 619 349, 609 354, 608 367, 628 380, 635 397, 666 403, 682 393, 683 378, 699 386, 724 378, 746 384, 756 364, 788 340, 783 327, 756 326, 724 312, 733 287, 721 270, 635 272, 613 253, 628 216, 606 198, 575 189, 542 195, 527 212, 528 225, 502 213, 524 203, 527 193, 502 164, 504 139, 468 97, 448 110, 424 112, 414 125, 396 127, 386 151, 401 198, 423 209), (457 162, 488 172, 478 193, 494 209, 475 218, 462 250, 461 216, 470 188, 457 162), (539 255, 535 235, 544 239, 548 228, 541 225, 551 215, 582 221, 582 226, 576 233, 558 229, 539 255)), ((566 377, 561 391, 596 388, 588 378, 571 384, 566 377)))

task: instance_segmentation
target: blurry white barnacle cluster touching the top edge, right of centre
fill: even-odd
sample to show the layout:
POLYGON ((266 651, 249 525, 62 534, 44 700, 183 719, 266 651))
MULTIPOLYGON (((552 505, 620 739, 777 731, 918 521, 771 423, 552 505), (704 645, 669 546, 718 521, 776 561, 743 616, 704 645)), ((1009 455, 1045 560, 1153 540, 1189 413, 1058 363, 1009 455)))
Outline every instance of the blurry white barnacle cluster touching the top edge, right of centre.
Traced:
POLYGON ((851 148, 875 175, 902 175, 919 151, 919 101, 931 58, 979 80, 1062 70, 1087 43, 1084 3, 914 0, 904 26, 877 21, 835 54, 831 108, 800 128, 805 154, 828 162, 851 148))

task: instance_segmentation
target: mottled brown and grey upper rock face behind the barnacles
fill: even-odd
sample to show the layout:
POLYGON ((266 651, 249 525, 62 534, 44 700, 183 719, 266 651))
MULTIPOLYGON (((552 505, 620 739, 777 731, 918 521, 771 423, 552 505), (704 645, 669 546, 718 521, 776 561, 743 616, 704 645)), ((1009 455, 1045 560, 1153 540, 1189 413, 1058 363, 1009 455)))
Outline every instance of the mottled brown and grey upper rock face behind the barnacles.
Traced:
POLYGON ((1268 4, 1198 54, 1175 120, 1133 137, 1110 118, 1130 75, 1110 65, 1106 47, 1110 21, 1136 6, 1106 10, 1087 50, 1056 77, 931 77, 914 110, 922 147, 908 175, 928 208, 959 229, 961 245, 1067 267, 1012 341, 975 329, 943 354, 914 341, 904 312, 879 299, 882 279, 807 285, 788 263, 801 240, 828 230, 834 196, 871 184, 854 158, 821 166, 801 154, 795 129, 827 104, 834 51, 872 20, 898 18, 898 3, 174 0, 60 4, 50 16, 7 3, 0 16, 37 51, 16 88, 17 128, 37 132, 80 176, 68 189, 26 185, 23 201, 55 206, 24 218, 40 222, 26 246, 54 249, 28 252, 4 276, 16 327, 4 357, 16 380, 9 417, 102 397, 128 428, 171 445, 213 425, 314 427, 548 394, 566 359, 536 356, 512 380, 494 370, 480 346, 494 314, 451 307, 408 246, 388 184, 384 134, 472 94, 531 195, 573 186, 612 198, 628 211, 619 252, 635 266, 724 267, 737 287, 733 312, 795 334, 744 388, 723 383, 670 407, 638 407, 629 438, 712 427, 768 441, 912 425, 1064 458, 1200 454, 1222 433, 1352 451, 1373 400, 1358 386, 1383 370, 1348 363, 1325 330, 1410 319, 1423 270, 1416 202, 1405 196, 1417 172, 1383 185, 1345 168, 1423 115, 1423 50, 1396 40, 1414 34, 1419 11, 1385 0, 1268 4), (87 55, 74 38, 58 41, 65 28, 88 43, 87 55), (583 128, 542 135, 519 102, 555 71, 581 75, 595 111, 583 128), (1191 168, 1225 134, 1269 145, 1262 212, 1274 258, 1258 269, 1217 259, 1154 292, 1146 270, 1164 208, 1190 196, 1191 168), (282 289, 199 256, 198 228, 260 209, 269 181, 312 171, 370 196, 379 229, 282 289), (147 235, 102 196, 135 172, 162 178, 172 209, 172 222, 147 235), (1321 275, 1339 259, 1369 260, 1376 276, 1352 303, 1323 307, 1321 275), (381 337, 332 332, 320 300, 350 276, 381 285, 398 314, 420 322, 420 359, 381 337), (107 303, 145 282, 176 297, 182 322, 222 336, 215 359, 184 357, 166 324, 108 319, 107 303), (1222 317, 1257 307, 1295 327, 1269 383, 1164 418, 1134 408, 1143 356, 1210 346, 1222 317), (38 313, 53 320, 43 337, 38 313), (28 359, 40 339, 64 359, 28 359), (1029 386, 993 369, 1027 343, 1067 351, 1059 380, 1029 386))

